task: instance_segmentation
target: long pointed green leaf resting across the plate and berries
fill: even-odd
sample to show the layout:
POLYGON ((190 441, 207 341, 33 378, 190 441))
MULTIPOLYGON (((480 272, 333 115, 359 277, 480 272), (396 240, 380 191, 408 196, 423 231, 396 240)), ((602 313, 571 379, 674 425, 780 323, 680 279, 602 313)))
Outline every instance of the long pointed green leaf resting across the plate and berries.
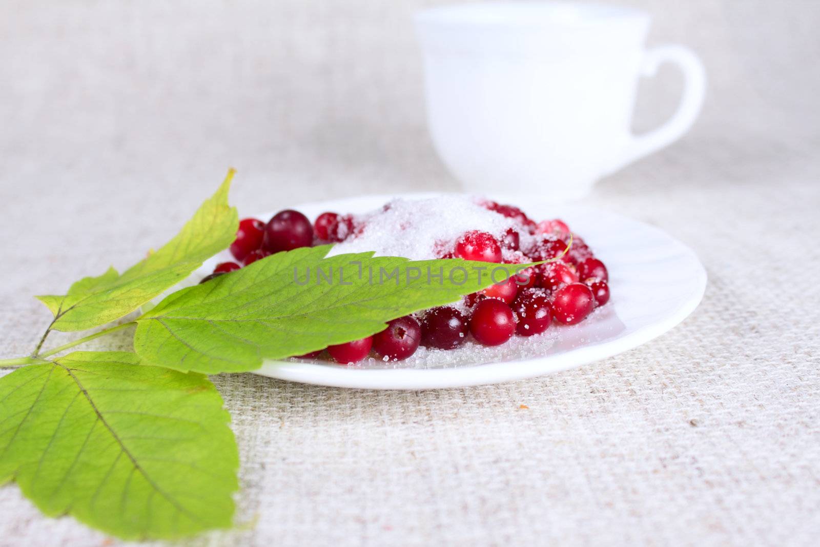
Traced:
POLYGON ((135 351, 148 362, 181 371, 253 370, 262 358, 301 355, 372 335, 386 321, 492 285, 493 271, 497 282, 526 266, 412 262, 373 253, 324 258, 329 249, 278 253, 171 294, 137 319, 135 351), (319 277, 317 283, 317 269, 332 272, 333 282, 319 277), (388 277, 393 273, 397 278, 388 277))

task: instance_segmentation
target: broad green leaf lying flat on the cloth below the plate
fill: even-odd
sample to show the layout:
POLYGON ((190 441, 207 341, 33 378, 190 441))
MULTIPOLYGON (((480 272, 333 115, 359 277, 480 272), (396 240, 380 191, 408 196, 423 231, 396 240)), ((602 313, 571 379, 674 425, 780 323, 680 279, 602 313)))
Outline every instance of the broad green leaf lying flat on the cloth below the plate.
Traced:
POLYGON ((0 483, 125 539, 231 525, 239 458, 206 376, 75 352, 0 378, 0 483))

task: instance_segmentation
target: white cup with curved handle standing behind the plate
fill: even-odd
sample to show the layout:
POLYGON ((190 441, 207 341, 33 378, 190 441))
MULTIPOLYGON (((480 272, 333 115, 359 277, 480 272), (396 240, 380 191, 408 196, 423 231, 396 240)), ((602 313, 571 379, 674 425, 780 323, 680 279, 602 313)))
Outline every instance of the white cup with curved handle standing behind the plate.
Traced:
POLYGON ((688 48, 644 48, 649 15, 563 2, 479 2, 416 16, 427 118, 444 163, 472 191, 589 194, 601 176, 671 144, 698 116, 706 79, 688 48), (675 62, 672 119, 631 134, 640 75, 675 62))

